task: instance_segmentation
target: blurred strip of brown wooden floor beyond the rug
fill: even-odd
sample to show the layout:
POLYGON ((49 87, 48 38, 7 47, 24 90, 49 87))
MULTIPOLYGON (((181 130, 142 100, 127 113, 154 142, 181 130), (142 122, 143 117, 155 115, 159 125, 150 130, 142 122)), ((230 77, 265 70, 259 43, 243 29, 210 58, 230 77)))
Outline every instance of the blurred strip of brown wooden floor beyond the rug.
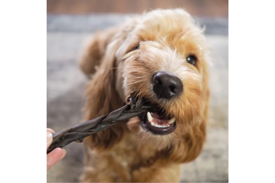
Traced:
POLYGON ((46 12, 52 14, 142 13, 176 7, 197 16, 229 16, 229 0, 46 0, 46 12))

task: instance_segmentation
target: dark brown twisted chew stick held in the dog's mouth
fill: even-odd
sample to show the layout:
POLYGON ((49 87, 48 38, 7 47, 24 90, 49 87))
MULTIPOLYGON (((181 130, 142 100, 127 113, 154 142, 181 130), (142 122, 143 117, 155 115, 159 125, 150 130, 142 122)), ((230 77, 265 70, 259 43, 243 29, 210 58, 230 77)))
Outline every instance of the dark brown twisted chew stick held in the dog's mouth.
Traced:
POLYGON ((111 112, 109 115, 100 116, 73 128, 54 133, 52 145, 46 150, 46 155, 55 148, 63 148, 72 142, 81 143, 85 137, 115 125, 116 121, 128 120, 142 113, 154 111, 151 106, 144 104, 145 102, 141 97, 136 98, 134 92, 131 93, 128 102, 130 104, 111 112))

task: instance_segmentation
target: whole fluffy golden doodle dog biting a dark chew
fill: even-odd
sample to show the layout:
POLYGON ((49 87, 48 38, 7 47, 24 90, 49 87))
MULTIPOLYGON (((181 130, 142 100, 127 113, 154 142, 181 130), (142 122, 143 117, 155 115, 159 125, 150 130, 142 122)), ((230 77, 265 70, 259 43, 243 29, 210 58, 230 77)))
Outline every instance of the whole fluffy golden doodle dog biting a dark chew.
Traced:
POLYGON ((80 68, 91 78, 85 121, 127 103, 159 108, 85 138, 82 183, 176 183, 206 139, 208 49, 183 9, 156 9, 94 34, 80 68))

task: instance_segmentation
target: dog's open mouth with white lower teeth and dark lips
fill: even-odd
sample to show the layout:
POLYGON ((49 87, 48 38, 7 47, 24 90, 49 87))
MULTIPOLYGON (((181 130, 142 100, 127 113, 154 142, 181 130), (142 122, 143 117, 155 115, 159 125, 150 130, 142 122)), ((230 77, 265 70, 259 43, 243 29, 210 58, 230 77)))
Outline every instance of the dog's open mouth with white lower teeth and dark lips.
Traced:
MULTIPOLYGON (((155 105, 154 107, 157 108, 155 105)), ((148 112, 147 114, 138 116, 141 120, 142 128, 155 135, 168 135, 174 132, 176 130, 175 118, 167 118, 164 112, 160 112, 160 110, 156 111, 158 112, 148 112)))

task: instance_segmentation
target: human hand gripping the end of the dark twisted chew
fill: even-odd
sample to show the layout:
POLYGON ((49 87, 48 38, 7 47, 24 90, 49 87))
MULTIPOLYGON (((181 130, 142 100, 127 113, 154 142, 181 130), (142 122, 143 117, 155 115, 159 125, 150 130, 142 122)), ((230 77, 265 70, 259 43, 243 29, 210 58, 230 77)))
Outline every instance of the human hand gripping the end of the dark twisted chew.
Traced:
MULTIPOLYGON (((54 130, 46 128, 46 150, 52 144, 52 134, 54 130)), ((62 160, 66 156, 66 150, 61 148, 55 148, 52 152, 46 155, 46 171, 52 168, 57 162, 62 160)))

